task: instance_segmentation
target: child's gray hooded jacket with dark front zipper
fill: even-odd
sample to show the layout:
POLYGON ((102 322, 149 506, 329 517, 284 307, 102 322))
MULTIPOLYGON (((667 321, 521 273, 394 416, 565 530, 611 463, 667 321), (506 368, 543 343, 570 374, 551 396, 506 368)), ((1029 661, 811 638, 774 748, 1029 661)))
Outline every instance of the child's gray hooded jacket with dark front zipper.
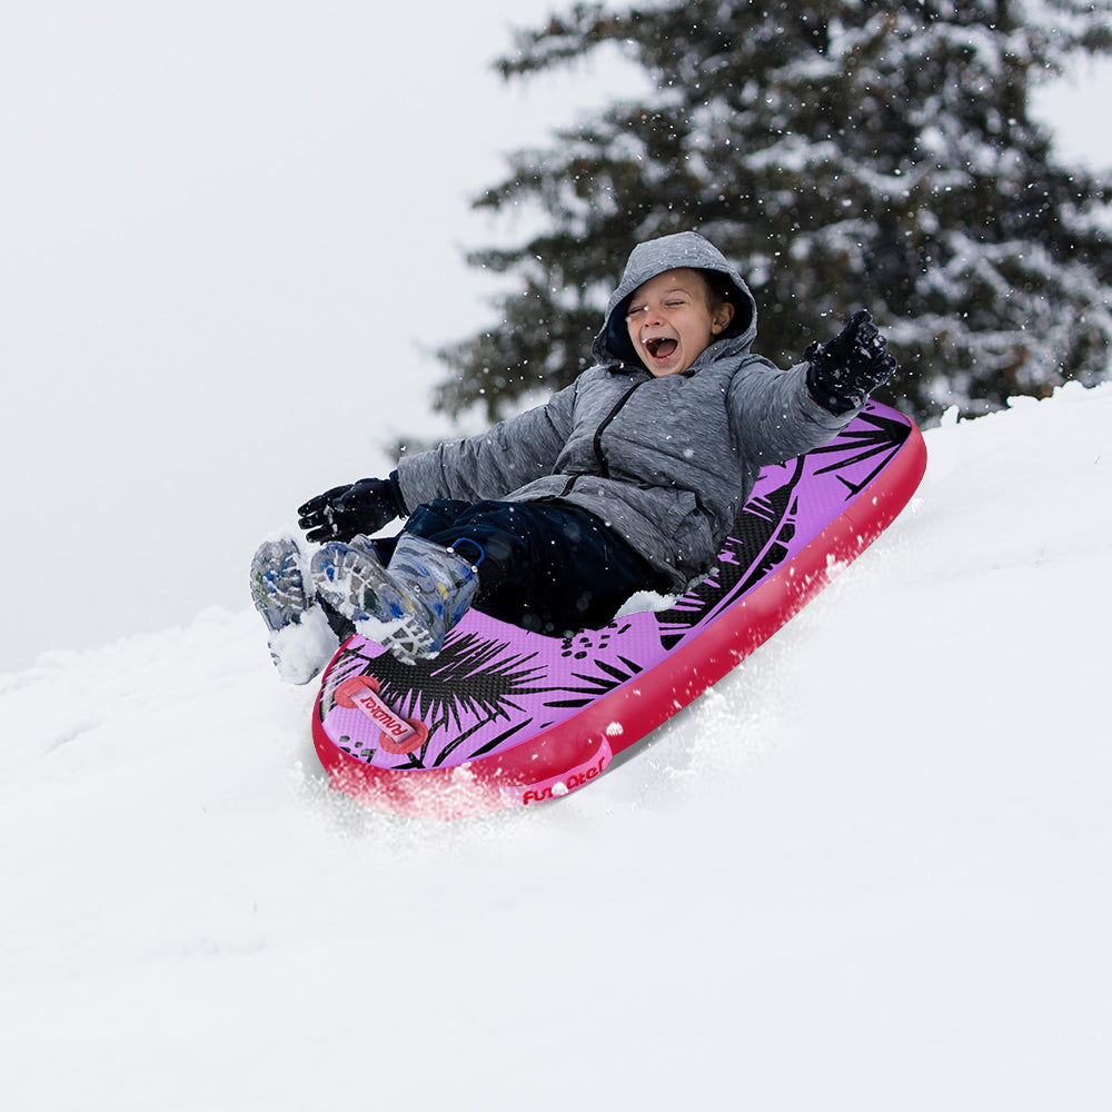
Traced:
POLYGON ((806 364, 788 371, 749 350, 756 302, 723 255, 695 232, 639 245, 595 338, 596 366, 546 405, 486 433, 409 456, 398 480, 410 509, 434 498, 558 499, 589 510, 683 590, 714 565, 766 464, 832 439, 856 410, 811 396, 806 364), (678 267, 734 287, 729 328, 678 375, 654 377, 626 330, 633 292, 678 267))

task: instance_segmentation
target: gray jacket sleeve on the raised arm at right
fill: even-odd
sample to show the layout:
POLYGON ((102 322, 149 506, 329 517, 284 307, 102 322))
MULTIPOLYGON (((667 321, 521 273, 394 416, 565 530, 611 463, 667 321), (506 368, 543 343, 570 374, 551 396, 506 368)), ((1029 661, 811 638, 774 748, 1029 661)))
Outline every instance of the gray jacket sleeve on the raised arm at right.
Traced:
POLYGON ((807 364, 781 370, 758 356, 734 376, 728 406, 735 443, 761 467, 826 444, 858 413, 824 409, 807 389, 807 364))

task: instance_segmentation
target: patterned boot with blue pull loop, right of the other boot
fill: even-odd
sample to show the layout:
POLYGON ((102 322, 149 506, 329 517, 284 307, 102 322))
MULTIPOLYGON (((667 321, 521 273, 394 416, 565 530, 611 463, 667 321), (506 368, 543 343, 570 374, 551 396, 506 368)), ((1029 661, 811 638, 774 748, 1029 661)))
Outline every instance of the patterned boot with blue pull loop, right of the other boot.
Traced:
POLYGON ((455 549, 404 533, 388 566, 374 543, 332 542, 312 557, 320 597, 401 661, 436 656, 478 589, 478 568, 455 549))

